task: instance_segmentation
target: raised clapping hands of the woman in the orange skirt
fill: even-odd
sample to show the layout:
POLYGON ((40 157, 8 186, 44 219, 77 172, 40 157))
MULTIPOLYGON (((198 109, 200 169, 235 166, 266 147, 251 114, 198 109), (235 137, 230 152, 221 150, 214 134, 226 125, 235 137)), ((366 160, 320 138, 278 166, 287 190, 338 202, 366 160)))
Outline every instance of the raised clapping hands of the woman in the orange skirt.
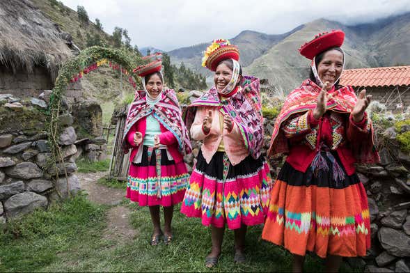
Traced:
MULTIPOLYGON (((319 95, 317 95, 316 107, 315 109, 313 109, 313 117, 315 119, 319 119, 320 117, 322 117, 327 110, 327 91, 330 88, 331 85, 329 84, 329 81, 326 81, 322 87, 322 90, 320 90, 319 95)), ((361 120, 363 120, 365 110, 368 108, 371 101, 372 95, 366 95, 365 89, 363 89, 358 94, 358 100, 354 105, 352 112, 350 113, 355 123, 358 123, 361 120)))

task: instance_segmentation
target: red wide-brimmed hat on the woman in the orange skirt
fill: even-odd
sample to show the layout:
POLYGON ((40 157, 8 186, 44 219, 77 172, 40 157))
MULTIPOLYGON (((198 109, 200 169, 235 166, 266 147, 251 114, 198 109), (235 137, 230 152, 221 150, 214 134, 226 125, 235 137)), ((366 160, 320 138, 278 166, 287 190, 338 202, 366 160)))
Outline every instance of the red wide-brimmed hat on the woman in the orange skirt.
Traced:
POLYGON ((301 55, 312 60, 320 52, 324 52, 331 47, 340 47, 345 40, 345 33, 341 30, 319 33, 310 42, 305 42, 300 48, 301 55))

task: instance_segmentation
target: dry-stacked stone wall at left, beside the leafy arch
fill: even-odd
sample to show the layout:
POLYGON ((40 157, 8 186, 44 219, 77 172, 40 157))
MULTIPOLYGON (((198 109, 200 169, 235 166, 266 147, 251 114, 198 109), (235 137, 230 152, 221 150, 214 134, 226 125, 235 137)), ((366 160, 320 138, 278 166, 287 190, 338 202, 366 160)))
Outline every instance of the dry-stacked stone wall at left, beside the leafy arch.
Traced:
POLYGON ((74 172, 77 140, 72 118, 61 119, 58 143, 62 159, 50 164, 50 148, 45 128, 44 100, 21 100, 0 94, 0 221, 21 217, 36 208, 47 208, 58 198, 79 190, 74 172), (65 170, 68 180, 65 179, 65 170))

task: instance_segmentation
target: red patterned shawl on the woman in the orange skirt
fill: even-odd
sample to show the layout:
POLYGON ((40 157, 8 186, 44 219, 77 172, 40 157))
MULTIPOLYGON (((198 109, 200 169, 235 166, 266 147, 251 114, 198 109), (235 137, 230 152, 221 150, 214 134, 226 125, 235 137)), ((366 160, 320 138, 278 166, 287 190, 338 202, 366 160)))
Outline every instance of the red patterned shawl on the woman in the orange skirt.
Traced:
MULTIPOLYGON (((320 90, 321 88, 312 80, 306 79, 299 88, 294 89, 294 91, 287 95, 281 113, 276 118, 274 132, 272 133, 271 143, 267 151, 268 157, 289 152, 287 139, 281 130, 281 125, 293 114, 305 113, 309 109, 315 109, 317 95, 320 90)), ((338 113, 350 114, 357 100, 353 88, 351 86, 343 86, 328 94, 326 108, 338 113)), ((371 134, 369 134, 365 143, 351 143, 353 155, 358 163, 379 162, 379 155, 374 148, 374 132, 370 119, 368 120, 368 128, 371 130, 371 134)))

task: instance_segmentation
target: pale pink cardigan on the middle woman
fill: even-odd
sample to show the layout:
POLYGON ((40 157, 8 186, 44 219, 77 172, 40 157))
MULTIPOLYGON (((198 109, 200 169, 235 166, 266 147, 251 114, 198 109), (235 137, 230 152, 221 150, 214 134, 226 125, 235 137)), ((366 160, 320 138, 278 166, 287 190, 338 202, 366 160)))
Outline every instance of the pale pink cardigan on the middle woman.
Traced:
POLYGON ((216 107, 198 107, 194 123, 192 123, 191 126, 191 137, 192 139, 203 141, 203 146, 200 149, 202 150, 203 157, 207 163, 210 163, 212 156, 216 153, 216 150, 218 150, 221 139, 223 139, 226 155, 228 155, 232 165, 235 166, 236 164, 239 164, 249 155, 249 151, 246 149, 238 125, 235 121, 233 124, 231 132, 228 132, 226 129, 223 129, 221 132, 219 109, 216 107), (211 130, 208 134, 205 134, 202 130, 203 118, 205 118, 205 115, 207 115, 210 110, 212 111, 211 130))

